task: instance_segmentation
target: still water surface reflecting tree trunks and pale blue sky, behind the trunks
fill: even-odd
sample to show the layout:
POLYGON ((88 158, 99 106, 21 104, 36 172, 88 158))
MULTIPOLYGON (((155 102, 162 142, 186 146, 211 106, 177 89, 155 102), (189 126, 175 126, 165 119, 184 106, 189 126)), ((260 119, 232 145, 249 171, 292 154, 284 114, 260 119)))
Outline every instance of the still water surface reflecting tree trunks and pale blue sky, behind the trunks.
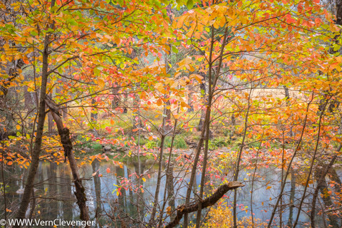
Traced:
MULTIPOLYGON (((164 209, 165 221, 170 221, 167 211, 173 211, 175 207, 185 202, 186 185, 189 176, 178 170, 179 167, 172 167, 173 172, 162 176, 162 188, 159 199, 161 201, 160 208, 164 209), (168 180, 166 182, 166 180, 168 180), (165 188, 166 187, 166 188, 165 188), (165 198, 164 198, 165 195, 165 198), (162 204, 162 200, 167 199, 166 204, 162 204)), ((90 212, 90 218, 94 219, 98 227, 130 227, 132 220, 137 222, 148 221, 148 213, 152 208, 152 200, 154 198, 155 187, 157 183, 157 167, 147 165, 146 162, 140 164, 138 162, 128 162, 120 166, 114 165, 113 162, 99 162, 94 160, 91 164, 82 165, 80 167, 80 175, 83 177, 83 185, 86 187, 87 203, 90 212), (143 174, 142 178, 137 175, 143 174), (135 187, 128 187, 128 186, 135 187), (143 192, 142 192, 143 190, 143 192), (127 214, 128 216, 125 216, 127 214)), ((279 195, 279 187, 281 185, 281 170, 277 168, 259 168, 257 176, 252 182, 254 170, 244 170, 240 172, 239 180, 243 180, 245 186, 238 190, 238 217, 246 217, 251 215, 251 205, 253 208, 254 218, 259 218, 263 222, 271 216, 271 209, 279 195), (253 197, 251 202, 251 191, 253 188, 253 197)), ((9 167, 5 172, 6 180, 6 207, 10 209, 7 216, 13 217, 19 206, 21 195, 17 191, 24 187, 22 180, 26 179, 27 170, 19 167, 9 167)), ((232 177, 232 173, 227 173, 227 177, 232 177)), ((200 174, 197 175, 197 185, 199 185, 200 174)), ((291 224, 296 217, 296 205, 303 194, 304 186, 300 185, 299 178, 295 180, 294 176, 289 175, 286 180, 286 188, 282 199, 281 209, 282 224, 291 224), (296 183, 297 181, 297 183, 296 183), (293 203, 291 203, 293 202, 293 203), (292 219, 292 220, 291 220, 292 219)), ((220 181, 215 184, 219 185, 220 181)), ((33 204, 35 209, 28 211, 27 217, 37 219, 56 219, 64 220, 79 219, 79 211, 76 204, 76 197, 73 195, 74 187, 71 180, 71 171, 68 165, 49 162, 41 162, 38 167, 36 177, 33 204)), ((313 191, 309 187, 309 192, 313 191)), ((227 192, 225 200, 232 202, 232 192, 227 192)), ((304 201, 303 212, 299 218, 300 226, 306 227, 305 223, 309 222, 309 205, 311 205, 311 195, 308 194, 304 201)), ((4 195, 1 194, 1 218, 4 217, 4 195)), ((30 208, 32 203, 30 204, 30 208)), ((319 207, 321 208, 321 207, 319 207)), ((316 210, 317 212, 320 209, 316 210)), ((276 225, 279 225, 275 219, 276 225)), ((317 226, 324 227, 323 217, 317 217, 317 226)), ((134 226, 133 226, 134 227, 134 226)))

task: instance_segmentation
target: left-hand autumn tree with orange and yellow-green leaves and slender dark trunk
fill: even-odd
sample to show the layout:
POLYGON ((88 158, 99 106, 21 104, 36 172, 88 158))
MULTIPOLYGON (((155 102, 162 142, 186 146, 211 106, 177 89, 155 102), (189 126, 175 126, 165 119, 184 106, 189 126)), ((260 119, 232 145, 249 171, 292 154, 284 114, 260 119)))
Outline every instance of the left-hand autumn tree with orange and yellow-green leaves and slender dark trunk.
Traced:
MULTIPOLYGON (((8 10, 4 14, 15 15, 16 24, 13 21, 1 21, 1 60, 4 63, 23 61, 26 68, 33 71, 35 78, 34 83, 21 81, 21 85, 31 86, 32 90, 40 93, 31 165, 17 215, 23 219, 41 155, 48 96, 53 97, 53 90, 58 90, 56 106, 48 104, 51 112, 58 113, 58 110, 53 110, 58 105, 84 100, 110 90, 113 84, 108 83, 106 86, 105 81, 118 81, 123 86, 133 83, 131 64, 122 53, 130 53, 131 46, 139 46, 155 38, 151 29, 155 25, 146 16, 150 16, 152 9, 160 9, 160 6, 145 2, 120 2, 118 7, 113 2, 108 4, 105 1, 16 1, 6 7, 8 10), (135 23, 131 24, 130 21, 135 23), (142 38, 137 39, 133 35, 142 38), (128 73, 111 74, 108 69, 115 65, 125 68, 120 71, 128 73), (88 94, 84 90, 88 90, 88 94)), ((2 75, 16 77, 11 72, 4 71, 2 75)), ((140 78, 136 80, 140 81, 140 78)), ((66 149, 67 145, 63 146, 66 149)), ((81 209, 81 212, 84 212, 81 219, 88 220, 86 211, 81 209)))

